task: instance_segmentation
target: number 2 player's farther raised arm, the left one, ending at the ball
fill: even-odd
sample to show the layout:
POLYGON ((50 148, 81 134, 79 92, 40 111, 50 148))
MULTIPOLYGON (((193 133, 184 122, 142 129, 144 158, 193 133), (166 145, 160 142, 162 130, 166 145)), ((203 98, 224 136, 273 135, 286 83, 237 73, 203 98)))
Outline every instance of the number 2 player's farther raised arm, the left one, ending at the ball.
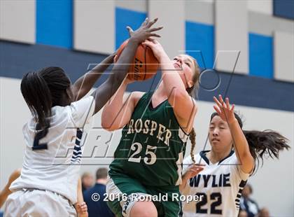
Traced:
POLYGON ((116 52, 109 55, 92 70, 87 71, 83 76, 78 78, 73 85, 71 85, 71 91, 73 92, 74 101, 78 101, 83 98, 87 92, 91 90, 94 83, 102 76, 102 73, 113 63, 113 58, 116 52))

